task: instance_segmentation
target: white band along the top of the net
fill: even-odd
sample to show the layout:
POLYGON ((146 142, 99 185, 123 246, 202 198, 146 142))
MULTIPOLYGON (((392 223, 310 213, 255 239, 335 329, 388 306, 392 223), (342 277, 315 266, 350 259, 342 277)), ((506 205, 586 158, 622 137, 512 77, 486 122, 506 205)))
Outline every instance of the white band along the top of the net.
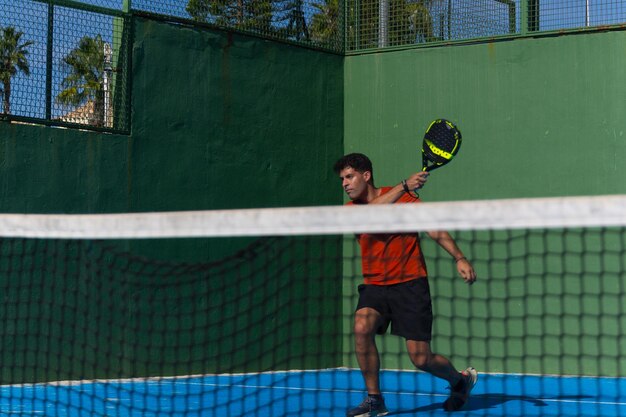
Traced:
POLYGON ((626 225, 626 195, 123 214, 0 214, 0 237, 149 239, 626 225))

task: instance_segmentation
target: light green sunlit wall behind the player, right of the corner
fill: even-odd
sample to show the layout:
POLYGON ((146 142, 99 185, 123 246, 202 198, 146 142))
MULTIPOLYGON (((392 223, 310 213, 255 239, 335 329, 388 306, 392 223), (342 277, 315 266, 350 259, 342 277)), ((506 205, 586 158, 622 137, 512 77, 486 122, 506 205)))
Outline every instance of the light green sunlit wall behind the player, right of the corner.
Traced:
MULTIPOLYGON (((425 201, 625 193, 624 68, 622 31, 348 56, 345 151, 372 158, 378 185, 396 184, 421 168, 423 132, 444 117, 463 145, 425 201)), ((479 282, 465 287, 425 238, 435 350, 486 372, 620 375, 626 272, 614 237, 540 233, 524 247, 505 232, 456 235, 479 282)), ((381 345, 384 367, 412 368, 401 341, 381 345)))

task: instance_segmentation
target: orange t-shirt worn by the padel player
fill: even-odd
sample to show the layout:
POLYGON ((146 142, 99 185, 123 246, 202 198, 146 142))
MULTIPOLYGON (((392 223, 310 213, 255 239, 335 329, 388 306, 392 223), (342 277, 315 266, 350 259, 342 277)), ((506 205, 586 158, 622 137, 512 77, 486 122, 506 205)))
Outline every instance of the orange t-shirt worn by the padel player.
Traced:
MULTIPOLYGON (((382 187, 382 194, 392 187, 382 187)), ((397 203, 419 203, 407 193, 397 203)), ((354 204, 349 202, 348 204, 354 204)), ((392 285, 428 275, 418 233, 360 234, 361 264, 365 284, 392 285)))

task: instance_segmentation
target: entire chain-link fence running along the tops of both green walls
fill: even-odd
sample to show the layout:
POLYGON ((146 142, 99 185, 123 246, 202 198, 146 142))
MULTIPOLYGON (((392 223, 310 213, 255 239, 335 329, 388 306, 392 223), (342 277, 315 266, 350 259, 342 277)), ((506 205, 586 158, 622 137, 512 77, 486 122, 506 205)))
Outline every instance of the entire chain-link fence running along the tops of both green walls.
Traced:
POLYGON ((618 27, 626 22, 626 2, 0 0, 0 118, 129 131, 133 13, 342 53, 618 27))

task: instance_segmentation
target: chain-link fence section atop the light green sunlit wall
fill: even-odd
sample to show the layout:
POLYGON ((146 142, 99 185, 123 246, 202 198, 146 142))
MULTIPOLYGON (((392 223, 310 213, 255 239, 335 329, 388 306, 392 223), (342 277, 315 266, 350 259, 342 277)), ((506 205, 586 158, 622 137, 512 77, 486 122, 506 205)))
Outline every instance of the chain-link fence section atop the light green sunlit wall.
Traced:
POLYGON ((346 51, 626 22, 622 0, 346 0, 346 51))

